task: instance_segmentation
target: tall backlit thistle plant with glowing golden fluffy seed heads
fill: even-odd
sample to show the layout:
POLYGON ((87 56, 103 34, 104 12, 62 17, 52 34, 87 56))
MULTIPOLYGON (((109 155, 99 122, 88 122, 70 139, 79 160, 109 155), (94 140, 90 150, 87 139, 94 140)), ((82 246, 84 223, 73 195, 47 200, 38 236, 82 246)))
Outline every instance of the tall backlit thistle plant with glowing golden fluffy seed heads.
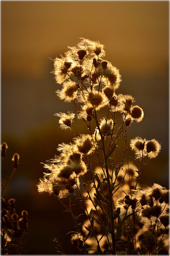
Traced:
POLYGON ((74 137, 70 144, 59 144, 60 154, 44 164, 47 173, 37 185, 38 192, 54 192, 71 214, 75 224, 75 230, 68 232, 71 244, 85 254, 165 252, 169 191, 159 184, 142 188, 139 183, 143 165, 158 155, 161 146, 155 139, 132 139, 138 166, 132 163, 127 130, 133 121, 143 119, 142 108, 134 105, 131 95, 116 94, 121 76, 104 59, 104 45, 81 38, 68 48, 54 60, 53 72, 62 84, 58 97, 75 106, 75 113, 56 116, 60 127, 70 129, 74 137), (87 134, 74 128, 76 118, 85 124, 87 134), (72 209, 74 198, 83 209, 84 223, 72 209))

